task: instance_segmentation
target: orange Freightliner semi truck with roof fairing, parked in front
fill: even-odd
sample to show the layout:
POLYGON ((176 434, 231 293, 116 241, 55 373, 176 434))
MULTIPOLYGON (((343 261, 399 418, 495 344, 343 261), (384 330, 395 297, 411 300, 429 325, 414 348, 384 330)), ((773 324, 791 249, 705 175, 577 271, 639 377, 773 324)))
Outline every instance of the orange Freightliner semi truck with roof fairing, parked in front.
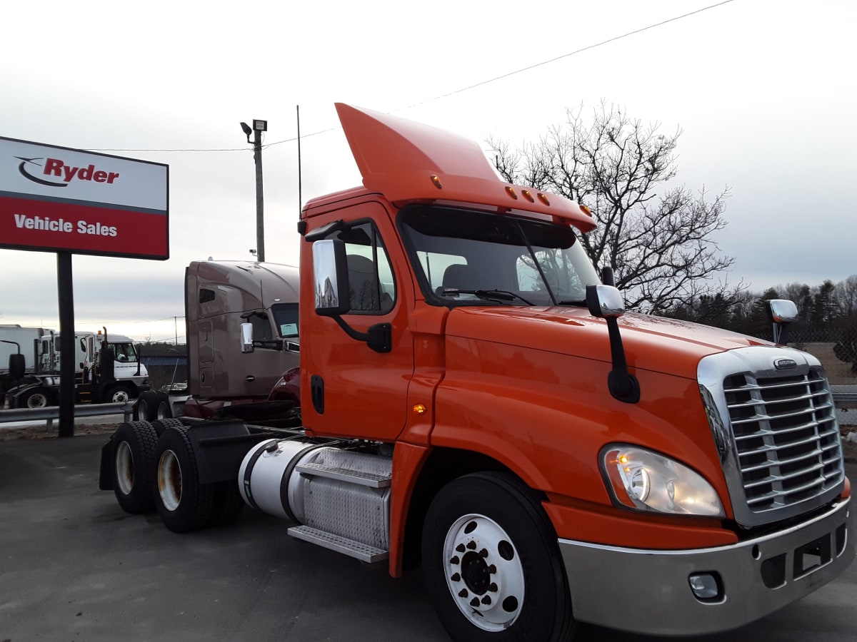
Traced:
POLYGON ((818 360, 626 314, 585 207, 500 181, 469 140, 337 110, 363 187, 298 223, 303 425, 120 425, 101 487, 123 508, 187 532, 246 503, 394 577, 421 565, 456 640, 711 633, 842 573, 818 360))

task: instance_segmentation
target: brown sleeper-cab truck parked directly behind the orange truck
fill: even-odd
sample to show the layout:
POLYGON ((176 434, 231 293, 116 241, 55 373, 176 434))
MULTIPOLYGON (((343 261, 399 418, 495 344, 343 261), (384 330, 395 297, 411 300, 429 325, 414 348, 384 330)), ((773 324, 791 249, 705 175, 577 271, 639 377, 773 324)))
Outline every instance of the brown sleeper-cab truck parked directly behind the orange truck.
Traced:
POLYGON ((187 381, 142 393, 135 419, 241 415, 298 425, 297 387, 288 384, 298 366, 297 267, 192 261, 184 284, 187 381), (243 351, 236 340, 242 324, 267 350, 243 351))

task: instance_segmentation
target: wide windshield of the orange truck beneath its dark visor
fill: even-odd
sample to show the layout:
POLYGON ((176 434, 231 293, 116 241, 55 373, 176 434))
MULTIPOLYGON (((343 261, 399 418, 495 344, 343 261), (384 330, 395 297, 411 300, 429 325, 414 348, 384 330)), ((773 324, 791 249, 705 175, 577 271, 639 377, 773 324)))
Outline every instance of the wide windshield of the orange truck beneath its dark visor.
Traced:
POLYGON ((582 306, 601 282, 566 226, 417 205, 401 227, 429 302, 582 306))

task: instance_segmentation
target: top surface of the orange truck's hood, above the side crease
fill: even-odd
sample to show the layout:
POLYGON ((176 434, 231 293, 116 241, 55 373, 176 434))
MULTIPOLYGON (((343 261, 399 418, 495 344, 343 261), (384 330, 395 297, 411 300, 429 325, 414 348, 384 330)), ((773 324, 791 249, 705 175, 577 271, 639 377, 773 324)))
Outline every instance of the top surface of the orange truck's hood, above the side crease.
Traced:
MULTIPOLYGON (((628 366, 695 379, 708 354, 772 345, 672 318, 627 313, 619 319, 628 366)), ((578 307, 457 307, 446 335, 610 362, 607 322, 578 307)))

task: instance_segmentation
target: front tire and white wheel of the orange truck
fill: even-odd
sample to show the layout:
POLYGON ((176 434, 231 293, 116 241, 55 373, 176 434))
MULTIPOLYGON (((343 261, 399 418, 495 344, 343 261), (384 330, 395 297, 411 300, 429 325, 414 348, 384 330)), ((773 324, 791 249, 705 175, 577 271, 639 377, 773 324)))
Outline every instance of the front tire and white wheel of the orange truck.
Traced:
POLYGON ((423 569, 440 621, 459 642, 571 639, 571 597, 554 529, 506 473, 447 484, 428 508, 423 569))

